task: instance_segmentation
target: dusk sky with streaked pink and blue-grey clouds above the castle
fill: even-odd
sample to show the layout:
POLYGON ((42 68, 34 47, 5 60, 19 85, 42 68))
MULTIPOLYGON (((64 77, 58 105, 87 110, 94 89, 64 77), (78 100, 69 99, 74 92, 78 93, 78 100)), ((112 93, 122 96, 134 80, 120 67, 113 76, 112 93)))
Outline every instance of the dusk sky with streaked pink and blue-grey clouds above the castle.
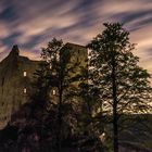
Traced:
POLYGON ((124 23, 140 64, 152 73, 152 0, 0 0, 0 60, 13 45, 38 59, 53 37, 86 45, 104 22, 124 23))

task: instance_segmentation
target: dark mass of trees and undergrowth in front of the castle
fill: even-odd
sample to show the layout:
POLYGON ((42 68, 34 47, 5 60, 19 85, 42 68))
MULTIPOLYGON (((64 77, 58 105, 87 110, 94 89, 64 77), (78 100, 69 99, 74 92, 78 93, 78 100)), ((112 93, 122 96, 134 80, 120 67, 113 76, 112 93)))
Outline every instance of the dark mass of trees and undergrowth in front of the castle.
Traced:
POLYGON ((104 26, 87 46, 87 67, 72 61, 73 48, 62 40, 53 38, 41 49, 31 84, 35 91, 0 132, 2 149, 61 152, 71 147, 107 152, 113 140, 117 152, 118 143, 136 147, 134 136, 140 132, 144 138, 147 128, 151 131, 143 115, 151 107, 151 76, 139 66, 135 45, 123 25, 104 26))

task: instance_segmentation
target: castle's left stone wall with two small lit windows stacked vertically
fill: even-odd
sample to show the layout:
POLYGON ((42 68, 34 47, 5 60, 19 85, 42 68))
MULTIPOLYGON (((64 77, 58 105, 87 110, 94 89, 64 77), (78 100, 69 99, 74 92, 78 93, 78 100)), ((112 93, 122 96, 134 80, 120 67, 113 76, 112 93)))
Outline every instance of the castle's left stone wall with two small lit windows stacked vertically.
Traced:
POLYGON ((0 129, 10 121, 12 113, 28 102, 29 84, 38 63, 21 56, 17 46, 13 46, 0 63, 0 129))

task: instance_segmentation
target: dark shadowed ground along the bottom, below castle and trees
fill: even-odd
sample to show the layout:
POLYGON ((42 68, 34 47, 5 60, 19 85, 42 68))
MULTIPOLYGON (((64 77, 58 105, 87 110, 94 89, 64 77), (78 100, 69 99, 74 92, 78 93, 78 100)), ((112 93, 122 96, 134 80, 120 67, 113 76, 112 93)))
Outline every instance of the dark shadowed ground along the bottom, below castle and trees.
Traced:
MULTIPOLYGON (((0 130, 0 152, 56 152, 58 131, 54 119, 50 118, 53 116, 43 116, 46 119, 40 122, 45 113, 37 111, 31 117, 29 110, 29 105, 24 106, 0 130)), ((138 122, 134 121, 135 115, 125 117, 129 121, 124 124, 127 129, 119 134, 119 152, 152 152, 152 115, 139 115, 138 122)), ((112 149, 104 148, 103 141, 87 131, 72 134, 66 124, 64 127, 66 135, 61 141, 61 152, 112 152, 112 149)), ((109 134, 112 134, 111 126, 109 128, 109 134)))

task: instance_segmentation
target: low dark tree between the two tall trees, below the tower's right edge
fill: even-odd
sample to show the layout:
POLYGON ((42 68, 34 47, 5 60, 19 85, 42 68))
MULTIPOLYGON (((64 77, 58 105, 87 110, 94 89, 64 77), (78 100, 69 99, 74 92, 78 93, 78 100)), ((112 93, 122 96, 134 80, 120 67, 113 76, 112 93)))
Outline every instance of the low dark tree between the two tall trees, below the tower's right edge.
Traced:
POLYGON ((98 111, 99 104, 102 104, 100 89, 93 84, 92 73, 89 68, 81 68, 80 81, 78 90, 79 98, 81 98, 81 101, 79 102, 81 110, 80 118, 78 121, 78 124, 80 124, 79 132, 84 134, 84 144, 86 143, 86 150, 89 148, 89 152, 103 152, 103 141, 100 139, 100 136, 104 130, 103 113, 99 112, 98 115, 94 114, 98 111), (88 141, 90 141, 90 143, 88 141))

